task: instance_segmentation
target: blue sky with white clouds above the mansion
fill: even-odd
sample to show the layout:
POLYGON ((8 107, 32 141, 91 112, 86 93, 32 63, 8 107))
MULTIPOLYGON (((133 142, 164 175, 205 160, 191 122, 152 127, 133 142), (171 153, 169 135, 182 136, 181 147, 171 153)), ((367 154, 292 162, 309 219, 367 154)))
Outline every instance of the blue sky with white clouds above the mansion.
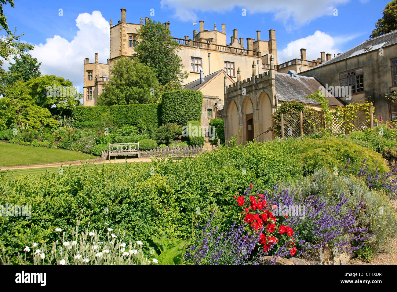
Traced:
MULTIPOLYGON (((299 58, 299 48, 307 58, 320 51, 336 54, 369 38, 375 22, 382 17, 386 0, 161 0, 161 1, 25 1, 4 6, 8 25, 24 32, 23 41, 34 44, 33 56, 42 62, 43 74, 68 78, 80 88, 83 60, 106 62, 109 54, 109 22, 120 20, 120 8, 127 9, 127 22, 141 17, 170 21, 173 37, 193 36, 193 22, 204 20, 204 29, 222 30, 227 40, 238 29, 238 37, 268 40, 268 30, 276 30, 279 63, 299 58), (241 4, 243 3, 243 4, 241 4), (62 9, 62 16, 59 10, 62 9), (243 11, 246 15, 243 15, 243 11), (336 10, 335 10, 336 9, 336 10), (94 12, 95 11, 95 12, 94 12), (154 16, 150 15, 154 12, 154 16), (337 15, 334 15, 337 14, 337 15)), ((198 24, 196 25, 198 29, 198 24)), ((244 41, 245 42, 245 41, 244 41)), ((7 66, 7 63, 5 63, 7 66)))

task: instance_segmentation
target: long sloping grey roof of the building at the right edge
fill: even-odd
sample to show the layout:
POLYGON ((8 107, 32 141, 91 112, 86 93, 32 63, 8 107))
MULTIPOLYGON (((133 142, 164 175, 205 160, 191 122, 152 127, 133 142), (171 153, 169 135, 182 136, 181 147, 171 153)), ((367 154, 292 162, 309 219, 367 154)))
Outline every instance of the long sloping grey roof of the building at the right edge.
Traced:
POLYGON ((339 56, 336 56, 335 58, 332 58, 310 70, 315 70, 318 67, 333 64, 335 62, 339 62, 354 56, 365 54, 367 52, 379 50, 380 48, 391 46, 393 44, 397 44, 397 30, 392 31, 391 33, 386 33, 379 37, 374 37, 373 39, 366 40, 363 43, 359 44, 358 46, 355 46, 354 48, 351 48, 350 50, 343 52, 339 56))

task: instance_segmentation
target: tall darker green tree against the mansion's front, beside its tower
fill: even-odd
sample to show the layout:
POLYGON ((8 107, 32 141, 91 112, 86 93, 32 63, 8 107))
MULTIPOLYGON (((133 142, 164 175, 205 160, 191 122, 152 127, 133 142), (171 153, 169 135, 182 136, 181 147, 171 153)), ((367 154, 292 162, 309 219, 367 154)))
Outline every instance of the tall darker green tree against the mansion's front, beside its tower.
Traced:
POLYGON ((138 31, 138 41, 135 46, 134 60, 153 68, 158 82, 166 85, 187 78, 186 71, 182 72, 182 59, 178 56, 179 46, 172 40, 170 30, 164 23, 146 21, 138 31))

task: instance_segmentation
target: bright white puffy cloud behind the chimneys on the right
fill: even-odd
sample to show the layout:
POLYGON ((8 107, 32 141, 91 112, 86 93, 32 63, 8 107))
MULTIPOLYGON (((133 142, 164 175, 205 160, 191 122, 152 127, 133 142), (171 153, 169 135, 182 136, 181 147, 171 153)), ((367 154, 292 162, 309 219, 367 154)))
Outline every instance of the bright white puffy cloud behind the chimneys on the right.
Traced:
POLYGON ((320 58, 320 52, 325 52, 326 54, 330 53, 333 57, 334 54, 336 56, 337 53, 343 52, 339 47, 360 35, 362 35, 362 33, 331 37, 322 31, 316 31, 313 35, 292 41, 287 44, 286 48, 278 50, 278 62, 281 64, 288 60, 299 58, 301 48, 306 49, 307 60, 316 60, 320 58))

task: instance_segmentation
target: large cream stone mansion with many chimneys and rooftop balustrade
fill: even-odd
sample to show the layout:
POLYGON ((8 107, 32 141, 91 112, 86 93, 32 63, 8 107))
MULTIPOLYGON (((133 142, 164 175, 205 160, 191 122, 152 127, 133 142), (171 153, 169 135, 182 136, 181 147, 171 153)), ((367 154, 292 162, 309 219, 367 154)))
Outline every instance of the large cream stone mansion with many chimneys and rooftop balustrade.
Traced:
MULTIPOLYGON (((145 23, 148 21, 145 17, 145 23)), ((121 20, 113 24, 110 20, 110 58, 107 64, 98 63, 98 54, 95 54, 95 63, 90 63, 89 58, 84 60, 84 83, 83 83, 83 104, 93 106, 97 97, 103 91, 103 85, 108 81, 112 64, 123 57, 131 58, 135 53, 134 47, 137 42, 137 33, 144 25, 143 18, 140 23, 127 23, 126 10, 121 9, 121 20)), ((169 28, 170 23, 165 25, 169 28)), ((237 29, 233 29, 233 36, 230 43, 226 38, 226 25, 222 24, 222 29, 218 30, 216 23, 214 29, 204 29, 204 21, 200 21, 199 31, 193 30, 193 35, 189 38, 186 35, 183 39, 173 38, 179 44, 179 56, 182 59, 183 71, 187 71, 189 76, 182 81, 183 85, 200 79, 200 69, 204 75, 210 76, 214 72, 224 70, 229 76, 230 82, 237 81, 237 67, 240 68, 241 77, 251 76, 252 63, 258 68, 258 73, 266 72, 270 69, 270 55, 274 58, 274 65, 277 65, 277 44, 276 33, 273 29, 269 30, 269 40, 263 41, 260 31, 256 31, 256 40, 247 38, 244 43, 242 37, 238 38, 237 29)), ((222 78, 221 78, 222 79, 222 78)), ((210 87, 218 87, 216 91, 223 91, 223 79, 218 84, 206 85, 207 91, 210 87)), ((223 101, 223 92, 218 95, 215 92, 206 92, 204 95, 216 96, 223 101)))

